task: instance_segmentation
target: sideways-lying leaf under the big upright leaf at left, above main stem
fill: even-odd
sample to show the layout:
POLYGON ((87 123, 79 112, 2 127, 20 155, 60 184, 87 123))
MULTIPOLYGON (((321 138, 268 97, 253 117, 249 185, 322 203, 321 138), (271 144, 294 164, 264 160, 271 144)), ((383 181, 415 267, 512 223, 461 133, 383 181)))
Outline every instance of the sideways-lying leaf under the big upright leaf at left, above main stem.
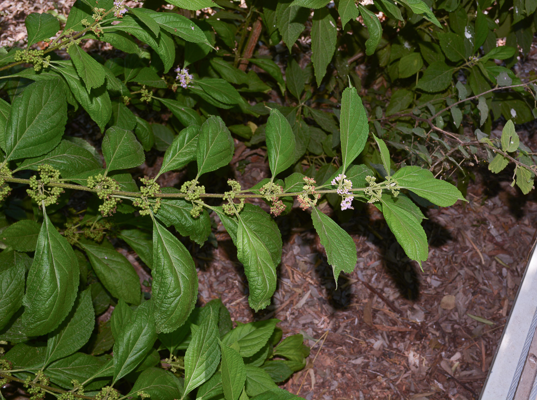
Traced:
POLYGON ((100 168, 101 165, 89 150, 76 143, 62 140, 52 151, 42 156, 25 158, 17 170, 37 171, 42 164, 50 164, 60 171, 62 178, 69 178, 79 173, 100 168))

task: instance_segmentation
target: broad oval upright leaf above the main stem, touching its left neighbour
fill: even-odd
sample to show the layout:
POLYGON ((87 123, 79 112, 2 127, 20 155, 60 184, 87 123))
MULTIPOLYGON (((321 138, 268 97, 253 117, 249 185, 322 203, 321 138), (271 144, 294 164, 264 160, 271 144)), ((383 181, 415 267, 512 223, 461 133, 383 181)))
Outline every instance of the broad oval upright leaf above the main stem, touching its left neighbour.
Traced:
POLYGON ((220 117, 212 115, 203 125, 198 139, 196 159, 198 176, 229 164, 235 146, 231 133, 220 117))

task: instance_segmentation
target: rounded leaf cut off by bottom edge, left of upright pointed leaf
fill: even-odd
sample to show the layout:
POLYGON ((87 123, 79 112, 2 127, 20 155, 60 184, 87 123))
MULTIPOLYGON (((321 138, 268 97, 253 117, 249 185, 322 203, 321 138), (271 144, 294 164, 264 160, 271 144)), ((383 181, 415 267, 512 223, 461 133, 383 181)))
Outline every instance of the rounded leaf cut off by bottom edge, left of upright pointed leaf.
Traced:
POLYGON ((140 374, 127 396, 134 396, 140 391, 154 400, 173 400, 183 395, 183 385, 171 372, 151 367, 140 374))

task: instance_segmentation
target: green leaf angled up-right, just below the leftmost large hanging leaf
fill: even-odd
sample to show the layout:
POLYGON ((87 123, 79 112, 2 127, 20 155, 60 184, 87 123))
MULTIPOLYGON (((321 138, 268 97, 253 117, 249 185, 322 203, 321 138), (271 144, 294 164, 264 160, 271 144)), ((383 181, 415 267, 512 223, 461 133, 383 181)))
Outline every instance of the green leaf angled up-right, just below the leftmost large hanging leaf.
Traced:
POLYGON ((67 318, 48 334, 46 361, 43 367, 71 355, 88 343, 95 326, 95 312, 90 292, 89 288, 80 292, 67 318))

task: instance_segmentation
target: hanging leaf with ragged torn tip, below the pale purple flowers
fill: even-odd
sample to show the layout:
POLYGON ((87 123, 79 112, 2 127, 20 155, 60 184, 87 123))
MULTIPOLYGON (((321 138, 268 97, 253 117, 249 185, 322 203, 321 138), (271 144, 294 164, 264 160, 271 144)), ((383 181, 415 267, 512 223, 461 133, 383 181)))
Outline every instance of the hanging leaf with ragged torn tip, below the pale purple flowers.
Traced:
POLYGON ((358 262, 356 245, 347 232, 316 207, 313 207, 311 212, 311 220, 326 250, 328 264, 332 266, 337 288, 339 273, 341 271, 351 273, 358 262))

